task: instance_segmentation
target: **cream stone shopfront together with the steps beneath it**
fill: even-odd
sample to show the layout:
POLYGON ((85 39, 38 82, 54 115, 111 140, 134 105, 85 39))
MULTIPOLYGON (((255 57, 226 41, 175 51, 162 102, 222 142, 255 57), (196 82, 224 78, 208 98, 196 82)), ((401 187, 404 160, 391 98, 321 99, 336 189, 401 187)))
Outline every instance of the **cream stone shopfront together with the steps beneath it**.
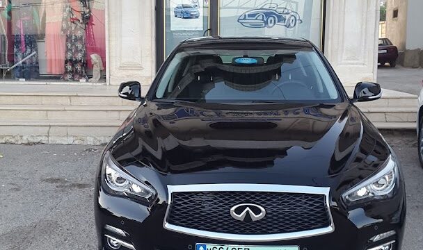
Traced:
MULTIPOLYGON (((178 42, 204 35, 306 38, 352 95, 356 83, 376 81, 379 8, 378 0, 0 0, 0 143, 107 142, 139 104, 120 99, 118 85, 139 81, 145 93, 178 42)), ((362 108, 380 128, 411 128, 415 101, 386 91, 362 108)))

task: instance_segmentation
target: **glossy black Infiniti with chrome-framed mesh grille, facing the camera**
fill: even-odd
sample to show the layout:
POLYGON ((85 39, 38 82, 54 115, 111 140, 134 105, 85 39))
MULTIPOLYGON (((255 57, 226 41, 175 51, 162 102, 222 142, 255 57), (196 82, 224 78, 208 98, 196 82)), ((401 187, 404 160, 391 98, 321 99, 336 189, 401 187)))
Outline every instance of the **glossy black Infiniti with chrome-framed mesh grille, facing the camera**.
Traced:
POLYGON ((107 145, 99 249, 399 250, 397 157, 306 40, 182 42, 107 145))

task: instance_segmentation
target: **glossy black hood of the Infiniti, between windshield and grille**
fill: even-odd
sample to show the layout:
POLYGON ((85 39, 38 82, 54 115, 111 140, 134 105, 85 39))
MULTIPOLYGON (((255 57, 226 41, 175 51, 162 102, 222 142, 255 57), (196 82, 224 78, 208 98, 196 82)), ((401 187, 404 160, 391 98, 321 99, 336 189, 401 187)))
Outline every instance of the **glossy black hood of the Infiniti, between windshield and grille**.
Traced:
POLYGON ((165 176, 201 173, 241 183, 246 176, 262 176, 271 183, 301 177, 316 184, 358 167, 360 172, 352 178, 364 178, 389 155, 376 128, 350 103, 195 106, 147 102, 127 124, 122 137, 125 146, 118 147, 124 150, 115 151, 115 158, 128 165, 130 155, 142 163, 139 166, 165 176))

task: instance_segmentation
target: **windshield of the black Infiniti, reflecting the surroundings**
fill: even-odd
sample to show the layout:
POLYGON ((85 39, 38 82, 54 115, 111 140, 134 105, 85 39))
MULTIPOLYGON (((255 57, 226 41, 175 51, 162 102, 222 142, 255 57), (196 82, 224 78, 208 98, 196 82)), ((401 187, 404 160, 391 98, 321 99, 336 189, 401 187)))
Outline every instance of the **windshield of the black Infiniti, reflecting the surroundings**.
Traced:
POLYGON ((154 99, 206 103, 333 103, 339 97, 311 48, 185 49, 170 61, 154 93, 154 99))

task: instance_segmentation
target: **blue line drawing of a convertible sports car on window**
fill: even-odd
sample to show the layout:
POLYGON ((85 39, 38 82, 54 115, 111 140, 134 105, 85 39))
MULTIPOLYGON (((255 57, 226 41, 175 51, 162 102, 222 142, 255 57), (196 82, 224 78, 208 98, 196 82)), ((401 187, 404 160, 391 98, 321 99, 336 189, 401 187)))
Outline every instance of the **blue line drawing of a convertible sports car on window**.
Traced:
POLYGON ((294 28, 303 20, 294 10, 279 7, 276 3, 266 3, 260 8, 244 12, 239 16, 238 22, 248 28, 273 28, 276 24, 294 28))

